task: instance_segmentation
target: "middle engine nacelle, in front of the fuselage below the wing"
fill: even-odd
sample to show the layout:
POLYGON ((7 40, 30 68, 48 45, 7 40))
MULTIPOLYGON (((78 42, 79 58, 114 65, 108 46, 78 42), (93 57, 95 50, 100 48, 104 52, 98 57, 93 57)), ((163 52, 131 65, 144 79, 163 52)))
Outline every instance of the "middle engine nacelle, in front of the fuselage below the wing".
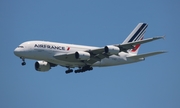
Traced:
POLYGON ((77 51, 77 52, 75 52, 75 58, 76 59, 89 60, 90 56, 91 55, 88 52, 84 52, 84 51, 77 51))

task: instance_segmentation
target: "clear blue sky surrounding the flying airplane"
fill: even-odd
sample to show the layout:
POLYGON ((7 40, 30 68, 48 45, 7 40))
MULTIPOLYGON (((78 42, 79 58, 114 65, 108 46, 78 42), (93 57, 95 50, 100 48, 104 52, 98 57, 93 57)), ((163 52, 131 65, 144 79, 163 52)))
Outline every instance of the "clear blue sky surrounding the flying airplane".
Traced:
POLYGON ((1 0, 1 108, 179 108, 178 0, 1 0), (145 38, 166 35, 139 53, 167 50, 143 62, 65 74, 40 73, 13 50, 28 40, 92 46, 121 43, 139 22, 145 38))

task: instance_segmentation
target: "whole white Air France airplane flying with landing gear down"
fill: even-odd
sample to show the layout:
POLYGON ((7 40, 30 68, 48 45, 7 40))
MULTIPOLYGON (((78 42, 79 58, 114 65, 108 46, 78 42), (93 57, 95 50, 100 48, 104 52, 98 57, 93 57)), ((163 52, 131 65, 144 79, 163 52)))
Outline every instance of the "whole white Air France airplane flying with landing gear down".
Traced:
POLYGON ((49 41, 26 41, 14 50, 14 54, 22 59, 22 66, 26 65, 25 59, 38 60, 35 70, 49 71, 57 65, 66 67, 66 74, 73 72, 82 73, 93 70, 93 67, 107 67, 135 63, 145 60, 146 57, 165 53, 166 51, 150 52, 138 55, 140 45, 164 36, 144 38, 147 23, 139 23, 121 44, 106 45, 104 47, 84 46, 49 41))

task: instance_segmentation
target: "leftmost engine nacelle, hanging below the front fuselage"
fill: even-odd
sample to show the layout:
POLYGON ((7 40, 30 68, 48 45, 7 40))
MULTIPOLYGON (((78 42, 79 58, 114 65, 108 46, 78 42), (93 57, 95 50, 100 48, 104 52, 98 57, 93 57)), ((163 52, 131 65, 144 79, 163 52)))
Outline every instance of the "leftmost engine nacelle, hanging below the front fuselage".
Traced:
POLYGON ((35 62, 35 69, 40 72, 45 72, 51 69, 51 65, 46 61, 35 62))

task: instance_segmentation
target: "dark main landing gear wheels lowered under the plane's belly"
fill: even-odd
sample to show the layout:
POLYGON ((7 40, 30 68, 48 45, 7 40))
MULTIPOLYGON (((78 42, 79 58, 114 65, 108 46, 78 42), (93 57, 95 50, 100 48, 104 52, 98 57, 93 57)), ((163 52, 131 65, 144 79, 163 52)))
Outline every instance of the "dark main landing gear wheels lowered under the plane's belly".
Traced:
MULTIPOLYGON (((75 73, 82 73, 82 72, 86 72, 86 71, 90 71, 90 70, 93 70, 93 68, 92 68, 91 66, 89 66, 89 65, 86 65, 86 66, 84 66, 84 67, 80 67, 80 68, 77 69, 77 70, 74 70, 74 72, 75 72, 75 73)), ((68 70, 66 70, 65 72, 66 72, 66 74, 68 74, 68 73, 73 72, 73 70, 70 69, 70 68, 68 68, 68 70)))

